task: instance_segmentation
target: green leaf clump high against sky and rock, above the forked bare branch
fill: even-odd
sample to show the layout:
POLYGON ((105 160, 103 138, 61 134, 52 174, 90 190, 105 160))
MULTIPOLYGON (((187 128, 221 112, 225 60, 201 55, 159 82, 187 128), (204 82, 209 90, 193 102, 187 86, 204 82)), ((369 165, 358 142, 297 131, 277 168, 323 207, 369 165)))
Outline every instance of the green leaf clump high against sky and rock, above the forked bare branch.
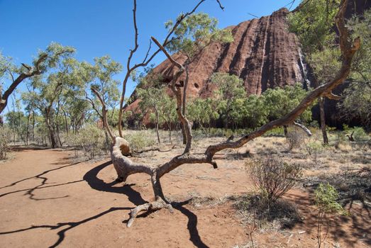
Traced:
MULTIPOLYGON (((216 18, 210 18, 207 13, 194 13, 187 16, 175 29, 175 39, 166 48, 170 52, 182 52, 192 60, 212 42, 231 43, 233 41, 231 30, 219 30, 217 26, 216 18)), ((165 28, 172 30, 173 21, 167 21, 165 28)))

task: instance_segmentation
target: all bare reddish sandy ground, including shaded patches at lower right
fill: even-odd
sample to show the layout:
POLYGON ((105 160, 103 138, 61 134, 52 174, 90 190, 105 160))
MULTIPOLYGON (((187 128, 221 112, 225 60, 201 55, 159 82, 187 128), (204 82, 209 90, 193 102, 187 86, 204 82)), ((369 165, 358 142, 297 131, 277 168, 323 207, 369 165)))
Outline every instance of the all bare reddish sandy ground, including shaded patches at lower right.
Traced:
MULTIPOLYGON (((194 195, 238 195, 251 190, 243 160, 218 159, 184 165, 162 179, 165 194, 179 203, 175 213, 160 210, 124 220, 135 205, 153 198, 148 176, 115 184, 109 159, 71 164, 61 150, 18 150, 0 164, 0 247, 234 247, 249 237, 231 203, 195 208, 194 195), (183 201, 183 202, 182 202, 183 201)), ((148 159, 148 158, 147 158, 148 159)), ((316 247, 316 218, 307 193, 290 191, 304 223, 290 230, 255 232, 258 247, 316 247), (304 233, 301 233, 305 231, 304 233), (299 232, 301 234, 299 234, 299 232)), ((326 247, 370 247, 370 214, 353 205, 351 217, 333 221, 326 247)))

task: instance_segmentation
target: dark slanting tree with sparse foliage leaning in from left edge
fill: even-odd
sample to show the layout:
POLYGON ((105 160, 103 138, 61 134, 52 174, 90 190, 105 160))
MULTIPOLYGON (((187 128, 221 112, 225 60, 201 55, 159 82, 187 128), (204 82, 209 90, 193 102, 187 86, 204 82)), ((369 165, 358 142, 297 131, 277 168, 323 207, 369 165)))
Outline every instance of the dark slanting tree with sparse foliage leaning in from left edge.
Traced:
MULTIPOLYGON (((50 43, 45 51, 38 52, 38 55, 32 62, 32 65, 21 63, 21 66, 13 64, 11 57, 5 57, 0 52, 0 114, 8 104, 9 96, 16 87, 25 79, 31 79, 37 75, 43 74, 50 68, 57 65, 61 57, 71 55, 74 52, 72 47, 62 47, 57 43, 50 43), (3 93, 4 82, 10 82, 10 85, 3 93)), ((0 124, 3 120, 0 115, 0 124)))

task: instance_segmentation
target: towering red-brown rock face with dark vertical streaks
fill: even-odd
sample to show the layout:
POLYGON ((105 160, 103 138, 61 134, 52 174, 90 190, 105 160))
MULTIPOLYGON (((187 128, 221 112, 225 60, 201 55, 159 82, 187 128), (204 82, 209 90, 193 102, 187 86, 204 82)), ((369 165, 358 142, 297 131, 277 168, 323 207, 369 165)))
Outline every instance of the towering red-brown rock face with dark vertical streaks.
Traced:
MULTIPOLYGON (((288 13, 287 9, 279 9, 271 16, 228 27, 232 29, 233 43, 214 43, 190 64, 188 95, 209 96, 214 91, 210 83, 214 72, 238 75, 243 79, 248 94, 261 94, 268 88, 296 82, 304 83, 306 71, 299 42, 296 35, 287 30, 288 13)), ((181 55, 173 57, 179 62, 184 61, 181 55)), ((162 74, 164 83, 168 83, 174 67, 169 60, 165 60, 153 72, 162 74)), ((128 106, 128 109, 133 107, 128 106)))

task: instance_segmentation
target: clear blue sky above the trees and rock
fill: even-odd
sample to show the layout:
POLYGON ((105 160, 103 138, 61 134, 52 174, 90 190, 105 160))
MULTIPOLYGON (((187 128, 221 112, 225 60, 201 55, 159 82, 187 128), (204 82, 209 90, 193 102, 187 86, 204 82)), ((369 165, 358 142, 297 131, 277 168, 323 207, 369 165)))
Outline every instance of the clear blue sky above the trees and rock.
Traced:
MULTIPOLYGON (((165 37, 164 23, 187 12, 198 0, 137 0, 140 48, 133 62, 143 60, 150 35, 165 37)), ((255 16, 267 16, 289 4, 290 0, 207 0, 199 11, 218 18, 219 27, 236 25, 255 16)), ((294 2, 294 9, 299 0, 294 2)), ((133 45, 133 2, 131 0, 0 0, 0 50, 16 64, 31 63, 38 49, 52 41, 77 49, 77 59, 93 62, 94 57, 111 55, 126 63, 133 45)), ((159 64, 160 55, 153 60, 159 64)), ((116 79, 123 79, 123 73, 116 79)), ((128 85, 127 96, 135 85, 128 85)), ((23 86, 20 89, 24 89, 23 86)))

